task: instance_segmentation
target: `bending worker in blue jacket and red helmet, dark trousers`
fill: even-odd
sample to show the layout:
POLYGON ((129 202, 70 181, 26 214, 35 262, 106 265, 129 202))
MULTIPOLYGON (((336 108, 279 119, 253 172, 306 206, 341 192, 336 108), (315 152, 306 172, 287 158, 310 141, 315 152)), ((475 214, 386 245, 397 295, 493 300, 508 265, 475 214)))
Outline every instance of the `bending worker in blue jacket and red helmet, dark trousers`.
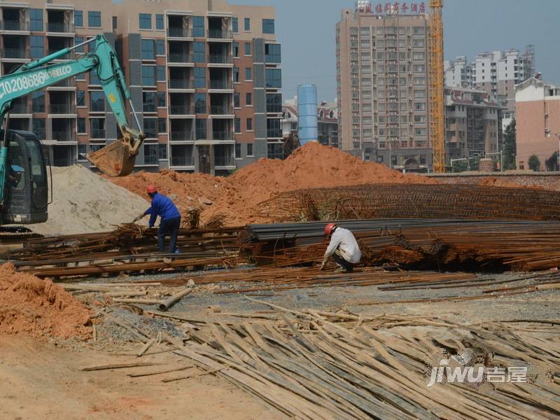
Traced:
POLYGON ((152 206, 134 219, 134 223, 144 216, 150 215, 150 228, 155 225, 155 220, 160 216, 160 228, 158 229, 158 246, 160 252, 165 252, 165 237, 169 234, 169 253, 175 253, 177 247, 177 235, 181 227, 181 214, 169 197, 158 194, 154 185, 146 188, 148 196, 152 199, 152 206))

